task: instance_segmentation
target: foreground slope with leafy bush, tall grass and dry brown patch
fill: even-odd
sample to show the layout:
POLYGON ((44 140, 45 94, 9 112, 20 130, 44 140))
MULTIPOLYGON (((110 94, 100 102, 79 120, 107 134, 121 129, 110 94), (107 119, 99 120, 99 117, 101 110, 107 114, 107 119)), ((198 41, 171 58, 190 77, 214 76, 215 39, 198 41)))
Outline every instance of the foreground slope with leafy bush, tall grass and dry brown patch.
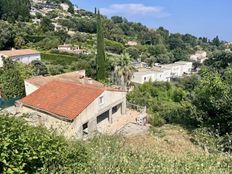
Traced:
MULTIPOLYGON (((20 158, 17 160, 14 158, 4 163, 22 166, 19 162, 24 156, 24 163, 40 164, 42 162, 41 166, 43 166, 46 161, 52 164, 52 159, 54 159, 59 168, 52 164, 52 168, 47 170, 53 169, 56 173, 75 173, 80 170, 81 173, 88 174, 227 174, 232 171, 231 157, 205 153, 191 143, 191 136, 180 127, 168 125, 155 128, 151 135, 141 137, 99 136, 85 142, 70 142, 51 135, 43 128, 27 126, 20 120, 0 116, 0 132, 2 132, 0 141, 5 144, 0 145, 0 164, 2 159, 11 159, 13 155, 20 158), (33 136, 31 137, 31 135, 33 136), (33 140, 35 138, 36 144, 33 140), (7 147, 14 147, 14 151, 4 150, 7 147), (35 147, 39 148, 36 150, 35 147), (21 150, 22 148, 32 151, 24 152, 21 150), (29 152, 36 156, 36 161, 26 158, 27 154, 30 154, 29 152), (5 155, 8 157, 6 158, 5 155), (44 158, 46 156, 49 158, 44 158)), ((12 169, 15 169, 13 166, 12 169)), ((46 165, 43 169, 46 170, 46 165)))

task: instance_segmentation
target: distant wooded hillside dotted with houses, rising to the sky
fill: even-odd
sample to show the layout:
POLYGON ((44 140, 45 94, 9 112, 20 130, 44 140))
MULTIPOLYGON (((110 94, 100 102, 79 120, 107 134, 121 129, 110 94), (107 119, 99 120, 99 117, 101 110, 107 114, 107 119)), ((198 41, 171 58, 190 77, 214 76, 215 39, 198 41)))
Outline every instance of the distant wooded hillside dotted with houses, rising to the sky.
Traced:
MULTIPOLYGON (((95 77, 97 25, 93 12, 79 9, 69 0, 0 2, 0 50, 34 48, 43 53, 49 74, 86 69, 88 76, 95 77), (12 10, 16 6, 17 10, 12 10), (84 55, 57 51, 63 44, 78 46, 84 55)), ((170 33, 158 26, 149 29, 120 16, 102 18, 109 76, 123 53, 128 53, 131 61, 143 61, 152 66, 188 60, 197 50, 212 55, 227 48, 218 37, 209 40, 191 34, 170 33)))

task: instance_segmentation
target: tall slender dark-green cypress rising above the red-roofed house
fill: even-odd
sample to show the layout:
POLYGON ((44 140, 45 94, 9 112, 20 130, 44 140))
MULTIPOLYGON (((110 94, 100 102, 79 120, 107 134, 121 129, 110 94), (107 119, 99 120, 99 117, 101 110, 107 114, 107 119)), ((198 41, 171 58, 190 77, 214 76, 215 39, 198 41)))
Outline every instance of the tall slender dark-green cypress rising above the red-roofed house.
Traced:
POLYGON ((106 56, 103 35, 103 26, 100 12, 97 14, 97 56, 96 56, 97 80, 106 80, 106 56))

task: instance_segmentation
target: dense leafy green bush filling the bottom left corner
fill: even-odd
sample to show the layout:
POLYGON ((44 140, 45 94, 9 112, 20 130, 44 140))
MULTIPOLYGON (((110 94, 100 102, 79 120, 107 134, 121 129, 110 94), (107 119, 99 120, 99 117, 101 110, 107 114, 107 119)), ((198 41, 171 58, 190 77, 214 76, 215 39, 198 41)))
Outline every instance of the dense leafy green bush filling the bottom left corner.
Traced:
POLYGON ((0 173, 62 173, 79 171, 86 150, 22 119, 0 116, 0 173))

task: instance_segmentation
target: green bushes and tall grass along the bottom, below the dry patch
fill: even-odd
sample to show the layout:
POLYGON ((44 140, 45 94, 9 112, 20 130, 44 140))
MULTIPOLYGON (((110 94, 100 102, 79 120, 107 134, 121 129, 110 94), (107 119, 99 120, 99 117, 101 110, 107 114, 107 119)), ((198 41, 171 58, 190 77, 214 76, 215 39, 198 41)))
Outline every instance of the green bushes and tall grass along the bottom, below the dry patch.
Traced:
POLYGON ((0 116, 0 173, 229 173, 221 154, 170 156, 135 150, 122 137, 65 140, 19 118, 0 116))

